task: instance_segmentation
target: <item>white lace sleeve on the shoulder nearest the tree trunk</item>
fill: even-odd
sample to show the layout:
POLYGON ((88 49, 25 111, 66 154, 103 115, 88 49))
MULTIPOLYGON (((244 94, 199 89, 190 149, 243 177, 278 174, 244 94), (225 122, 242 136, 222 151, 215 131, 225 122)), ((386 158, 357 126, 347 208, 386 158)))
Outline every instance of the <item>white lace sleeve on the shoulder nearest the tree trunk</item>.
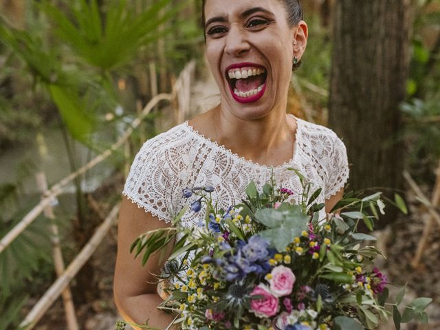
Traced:
POLYGON ((327 164, 327 179, 325 180, 325 198, 335 195, 349 179, 349 161, 344 142, 334 134, 331 136, 333 148, 327 164))

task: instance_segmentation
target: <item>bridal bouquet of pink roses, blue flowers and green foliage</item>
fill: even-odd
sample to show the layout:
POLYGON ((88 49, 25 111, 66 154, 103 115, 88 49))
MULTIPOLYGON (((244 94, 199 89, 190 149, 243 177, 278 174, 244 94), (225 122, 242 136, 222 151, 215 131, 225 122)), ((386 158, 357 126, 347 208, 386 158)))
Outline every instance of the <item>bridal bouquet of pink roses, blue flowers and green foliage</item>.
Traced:
POLYGON ((387 278, 373 263, 382 252, 369 245, 375 237, 358 232, 360 221, 373 229, 383 213, 381 193, 351 193, 333 209, 339 214, 319 219, 321 189, 311 191, 295 172, 300 203, 288 202, 293 192, 273 180, 261 192, 251 182, 246 199, 226 210, 212 200, 214 188, 185 189, 186 198, 197 195, 193 212, 206 203, 204 221, 184 228, 182 210, 174 228, 142 234, 131 247, 146 262, 179 237, 157 276, 168 294, 158 308, 177 313, 181 329, 361 330, 391 315, 396 329, 413 318, 427 322, 430 298, 413 300, 401 314, 402 288, 387 303, 387 278))

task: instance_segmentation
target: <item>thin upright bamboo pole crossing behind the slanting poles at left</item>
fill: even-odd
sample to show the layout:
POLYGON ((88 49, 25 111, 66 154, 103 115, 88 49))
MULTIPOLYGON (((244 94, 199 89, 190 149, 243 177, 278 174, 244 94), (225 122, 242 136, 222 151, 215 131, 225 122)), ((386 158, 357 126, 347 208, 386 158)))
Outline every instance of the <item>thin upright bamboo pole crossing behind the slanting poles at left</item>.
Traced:
MULTIPOLYGON (((44 172, 39 172, 36 173, 35 176, 36 176, 36 184, 39 187, 39 190, 41 191, 41 196, 43 197, 47 192, 46 175, 44 172)), ((51 237, 52 246, 53 246, 52 253, 54 258, 56 276, 58 276, 59 278, 61 275, 63 275, 65 271, 65 266, 63 260, 63 254, 61 252, 58 226, 55 223, 54 209, 52 208, 51 205, 45 208, 44 214, 45 217, 47 217, 47 219, 50 219, 51 221, 50 231, 52 232, 52 237, 51 237)), ((70 292, 70 288, 68 285, 65 287, 65 289, 63 289, 62 296, 63 296, 63 305, 66 316, 66 322, 67 322, 67 329, 78 330, 79 327, 78 327, 78 321, 76 320, 74 301, 72 300, 72 292, 70 292)))

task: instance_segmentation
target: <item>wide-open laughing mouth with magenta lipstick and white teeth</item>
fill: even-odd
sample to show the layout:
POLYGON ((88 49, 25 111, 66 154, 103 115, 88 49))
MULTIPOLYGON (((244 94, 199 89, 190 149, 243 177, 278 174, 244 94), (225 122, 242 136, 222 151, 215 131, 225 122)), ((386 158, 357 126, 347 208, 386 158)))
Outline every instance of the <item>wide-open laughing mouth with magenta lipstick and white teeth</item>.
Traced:
POLYGON ((254 102, 265 92, 267 70, 261 65, 231 65, 226 69, 226 79, 232 97, 237 102, 254 102))

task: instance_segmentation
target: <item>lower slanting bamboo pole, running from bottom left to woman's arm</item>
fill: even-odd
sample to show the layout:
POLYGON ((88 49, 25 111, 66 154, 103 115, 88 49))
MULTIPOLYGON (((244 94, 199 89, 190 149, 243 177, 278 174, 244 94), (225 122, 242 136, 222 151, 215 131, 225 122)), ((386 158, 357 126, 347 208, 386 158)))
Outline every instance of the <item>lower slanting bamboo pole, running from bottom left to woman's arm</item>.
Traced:
POLYGON ((85 245, 80 254, 70 263, 67 270, 52 284, 52 286, 45 292, 43 297, 34 305, 32 310, 26 316, 25 320, 21 322, 19 327, 25 327, 26 330, 33 329, 37 322, 43 317, 47 309, 52 306, 54 301, 60 296, 61 292, 69 285, 70 281, 78 274, 80 269, 87 263, 91 255, 94 254, 98 245, 104 239, 111 225, 117 219, 120 203, 113 207, 105 221, 99 226, 95 234, 91 237, 89 243, 85 245))

